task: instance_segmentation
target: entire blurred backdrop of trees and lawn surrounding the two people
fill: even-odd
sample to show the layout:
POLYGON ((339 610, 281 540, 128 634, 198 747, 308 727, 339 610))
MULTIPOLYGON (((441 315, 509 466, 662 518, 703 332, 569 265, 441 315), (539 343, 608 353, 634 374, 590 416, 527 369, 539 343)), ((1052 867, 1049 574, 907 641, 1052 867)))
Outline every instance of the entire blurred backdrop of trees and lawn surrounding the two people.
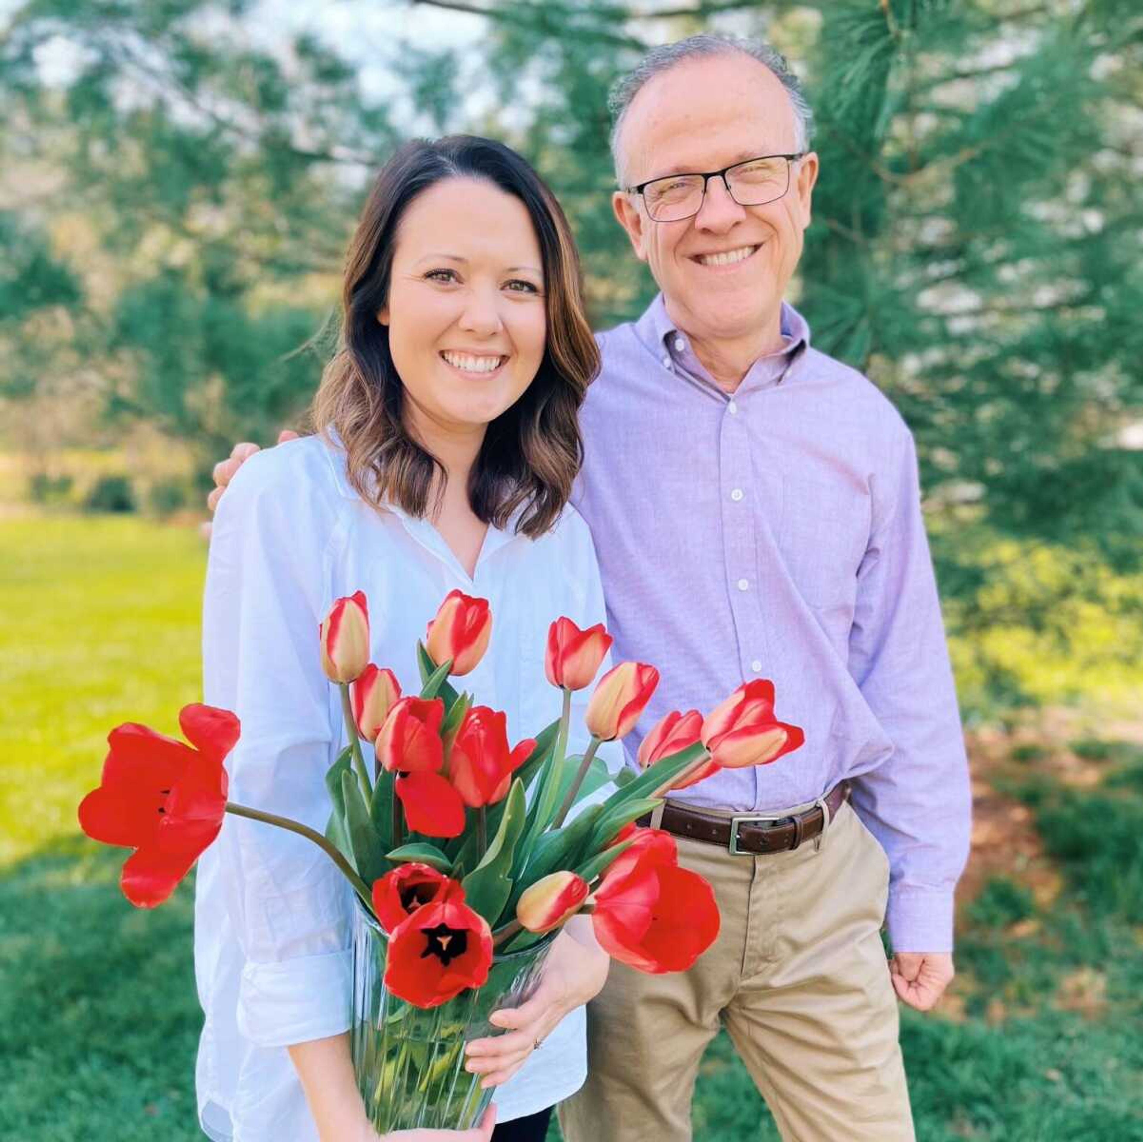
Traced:
MULTIPOLYGON (((606 91, 700 30, 802 75, 791 300, 921 456, 976 829, 960 979, 904 1021, 919 1136, 1143 1140, 1136 0, 0 0, 0 1135, 195 1134, 189 894, 131 912, 74 805, 198 693, 210 465, 306 405, 373 173, 503 138, 630 319, 606 91)), ((700 1136, 762 1118, 718 1040, 700 1136)))

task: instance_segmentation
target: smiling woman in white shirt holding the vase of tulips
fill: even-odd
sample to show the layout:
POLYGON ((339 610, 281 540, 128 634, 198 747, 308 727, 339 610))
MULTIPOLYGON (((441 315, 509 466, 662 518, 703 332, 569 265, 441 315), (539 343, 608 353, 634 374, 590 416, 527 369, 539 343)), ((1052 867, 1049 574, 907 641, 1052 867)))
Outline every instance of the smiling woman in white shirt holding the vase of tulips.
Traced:
MULTIPOLYGON (((406 145, 365 207, 343 305, 317 434, 250 460, 219 505, 203 615, 206 701, 242 721, 232 798, 318 829, 342 746, 317 644, 335 598, 366 592, 371 658, 406 690, 445 594, 489 599, 491 646, 465 681, 506 712, 512 741, 558 712, 543 677, 549 623, 604 620, 591 537, 567 506, 598 352, 570 231, 538 176, 487 139, 406 145)), ((227 820, 200 862, 210 1137, 376 1137, 345 1033, 352 907, 320 852, 256 822, 227 820)), ((574 919, 536 996, 494 1017, 507 1033, 469 1045, 470 1070, 499 1086, 498 1142, 543 1139, 551 1107, 582 1084, 582 1005, 606 969, 590 921, 574 919)))

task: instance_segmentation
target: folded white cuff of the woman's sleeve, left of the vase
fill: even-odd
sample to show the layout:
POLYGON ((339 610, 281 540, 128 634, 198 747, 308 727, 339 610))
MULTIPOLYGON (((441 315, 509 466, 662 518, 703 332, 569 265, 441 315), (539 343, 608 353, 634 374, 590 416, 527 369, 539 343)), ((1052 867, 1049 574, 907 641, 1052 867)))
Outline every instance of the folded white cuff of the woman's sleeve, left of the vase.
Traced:
POLYGON ((238 1029, 256 1047, 290 1047, 350 1028, 353 950, 247 964, 238 992, 238 1029))

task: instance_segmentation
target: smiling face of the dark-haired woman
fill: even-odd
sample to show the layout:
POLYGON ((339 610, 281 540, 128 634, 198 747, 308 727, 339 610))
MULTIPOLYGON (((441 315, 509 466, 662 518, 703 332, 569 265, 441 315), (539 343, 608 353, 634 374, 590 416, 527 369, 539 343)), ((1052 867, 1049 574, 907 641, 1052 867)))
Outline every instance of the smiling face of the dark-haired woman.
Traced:
POLYGON ((480 432, 520 398, 544 356, 544 275, 525 205, 478 178, 447 178, 397 229, 377 313, 423 436, 480 432))

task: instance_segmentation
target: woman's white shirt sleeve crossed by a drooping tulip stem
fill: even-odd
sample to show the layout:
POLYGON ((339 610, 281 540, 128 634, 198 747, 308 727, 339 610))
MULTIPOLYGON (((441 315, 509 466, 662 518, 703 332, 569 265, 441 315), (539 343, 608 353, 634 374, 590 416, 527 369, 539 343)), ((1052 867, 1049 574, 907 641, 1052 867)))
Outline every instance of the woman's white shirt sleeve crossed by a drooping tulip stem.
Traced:
MULTIPOLYGON (((214 524, 202 620, 203 692, 233 710, 230 800, 325 829, 339 745, 318 625, 328 606, 336 503, 291 474, 286 449, 248 461, 214 524)), ((243 966, 238 1027, 281 1047, 350 1025, 351 889, 311 841, 227 815, 218 892, 243 966)))

